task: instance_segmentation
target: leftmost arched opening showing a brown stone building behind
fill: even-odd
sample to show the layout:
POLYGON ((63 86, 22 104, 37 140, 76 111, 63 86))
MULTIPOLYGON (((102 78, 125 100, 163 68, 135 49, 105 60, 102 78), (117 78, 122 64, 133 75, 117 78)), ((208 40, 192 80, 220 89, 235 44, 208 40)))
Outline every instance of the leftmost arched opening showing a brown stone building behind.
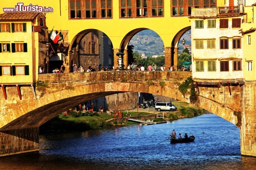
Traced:
POLYGON ((105 33, 97 29, 83 30, 71 41, 69 60, 74 60, 78 68, 82 66, 85 72, 89 66, 94 66, 96 71, 104 67, 109 69, 113 66, 112 49, 112 42, 105 33))

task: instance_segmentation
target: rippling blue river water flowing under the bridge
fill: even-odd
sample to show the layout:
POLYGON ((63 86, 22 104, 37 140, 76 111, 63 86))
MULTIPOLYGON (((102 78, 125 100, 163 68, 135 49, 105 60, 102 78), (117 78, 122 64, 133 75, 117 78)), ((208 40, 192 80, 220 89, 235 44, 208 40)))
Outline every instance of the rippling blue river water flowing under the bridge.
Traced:
POLYGON ((166 124, 46 134, 40 135, 39 152, 2 157, 0 169, 255 170, 256 158, 240 155, 239 132, 217 115, 204 114, 166 124), (162 142, 172 129, 196 139, 162 142))

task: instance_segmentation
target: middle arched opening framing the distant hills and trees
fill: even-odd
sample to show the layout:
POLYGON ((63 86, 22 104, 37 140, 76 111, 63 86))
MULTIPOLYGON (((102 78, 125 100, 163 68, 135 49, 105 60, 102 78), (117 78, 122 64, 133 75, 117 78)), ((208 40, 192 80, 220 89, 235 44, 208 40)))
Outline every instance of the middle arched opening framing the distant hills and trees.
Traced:
POLYGON ((142 64, 146 70, 149 64, 155 64, 155 68, 159 69, 164 65, 164 43, 151 29, 138 28, 130 31, 123 38, 120 48, 124 51, 125 66, 135 62, 137 67, 142 64))

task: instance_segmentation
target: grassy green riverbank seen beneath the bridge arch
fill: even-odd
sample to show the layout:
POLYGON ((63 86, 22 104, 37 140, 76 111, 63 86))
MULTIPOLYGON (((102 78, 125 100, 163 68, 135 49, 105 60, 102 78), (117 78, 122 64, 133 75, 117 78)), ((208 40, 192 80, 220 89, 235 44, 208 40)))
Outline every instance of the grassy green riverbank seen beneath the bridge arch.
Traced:
POLYGON ((191 118, 203 113, 201 108, 188 104, 186 102, 174 102, 177 107, 176 112, 165 112, 165 111, 153 111, 153 108, 142 109, 139 108, 138 117, 137 109, 132 111, 122 111, 123 118, 114 119, 114 113, 98 113, 96 115, 81 115, 79 117, 72 117, 60 114, 57 117, 49 120, 42 126, 40 126, 40 133, 51 133, 58 131, 84 131, 89 129, 99 129, 113 125, 131 125, 138 124, 136 122, 127 121, 128 117, 140 119, 140 120, 154 120, 154 122, 162 121, 162 118, 157 118, 157 114, 164 115, 165 119, 175 120, 180 118, 191 118))

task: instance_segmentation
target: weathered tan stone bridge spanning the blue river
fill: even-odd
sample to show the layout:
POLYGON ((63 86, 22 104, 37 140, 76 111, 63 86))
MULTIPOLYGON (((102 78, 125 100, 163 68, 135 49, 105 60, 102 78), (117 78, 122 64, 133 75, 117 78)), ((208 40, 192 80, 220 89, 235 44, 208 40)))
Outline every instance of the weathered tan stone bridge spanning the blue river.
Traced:
MULTIPOLYGON (((41 90, 36 87, 34 91, 30 86, 21 86, 22 100, 17 95, 15 86, 7 86, 7 100, 0 94, 0 155, 37 151, 39 126, 76 104, 97 97, 133 91, 190 102, 189 94, 183 97, 178 85, 191 76, 191 72, 175 71, 40 74, 38 80, 40 83, 48 82, 48 87, 41 90)), ((242 130, 241 126, 245 124, 242 116, 244 87, 219 82, 219 86, 205 86, 197 80, 194 84, 198 99, 194 104, 230 121, 242 130)), ((243 133, 241 139, 242 151, 246 147, 243 133)), ((253 143, 248 145, 254 146, 253 143)))

